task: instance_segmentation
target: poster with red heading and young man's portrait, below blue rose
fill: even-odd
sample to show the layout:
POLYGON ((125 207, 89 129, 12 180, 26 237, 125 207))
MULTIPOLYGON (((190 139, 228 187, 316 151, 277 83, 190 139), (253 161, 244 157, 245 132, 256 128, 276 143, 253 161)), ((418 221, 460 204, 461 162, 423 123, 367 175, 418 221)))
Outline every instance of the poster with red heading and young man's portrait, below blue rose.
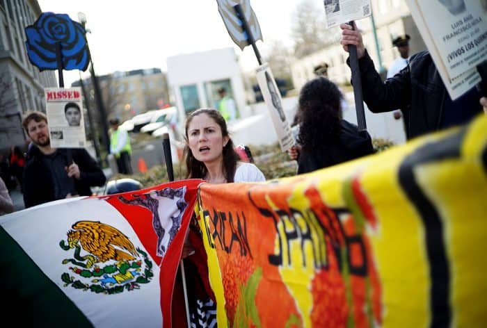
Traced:
POLYGON ((51 147, 86 147, 81 88, 46 88, 44 92, 51 147))

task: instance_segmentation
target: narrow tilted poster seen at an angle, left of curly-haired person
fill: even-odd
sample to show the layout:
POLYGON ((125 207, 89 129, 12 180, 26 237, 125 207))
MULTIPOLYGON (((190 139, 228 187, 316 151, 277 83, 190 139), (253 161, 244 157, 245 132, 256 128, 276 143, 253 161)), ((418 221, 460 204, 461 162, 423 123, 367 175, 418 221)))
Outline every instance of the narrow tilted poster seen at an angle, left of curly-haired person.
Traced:
POLYGON ((272 124, 278 135, 280 149, 287 151, 294 145, 294 137, 291 126, 286 119, 284 109, 282 108, 282 99, 274 76, 271 72, 271 67, 268 64, 263 64, 257 67, 257 83, 259 83, 262 97, 269 109, 272 124))

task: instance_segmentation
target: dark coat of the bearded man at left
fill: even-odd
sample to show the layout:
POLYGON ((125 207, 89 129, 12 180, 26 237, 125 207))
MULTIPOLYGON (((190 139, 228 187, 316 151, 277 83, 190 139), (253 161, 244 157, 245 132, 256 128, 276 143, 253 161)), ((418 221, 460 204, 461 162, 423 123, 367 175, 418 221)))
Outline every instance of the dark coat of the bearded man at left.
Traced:
MULTIPOLYGON (((90 186, 103 186, 106 182, 105 174, 85 149, 57 149, 66 158, 70 151, 72 160, 79 167, 80 179, 74 179, 74 186, 80 196, 92 195, 90 186)), ((29 149, 27 162, 24 167, 24 204, 31 207, 56 200, 54 186, 49 168, 42 161, 40 149, 35 145, 29 149)))

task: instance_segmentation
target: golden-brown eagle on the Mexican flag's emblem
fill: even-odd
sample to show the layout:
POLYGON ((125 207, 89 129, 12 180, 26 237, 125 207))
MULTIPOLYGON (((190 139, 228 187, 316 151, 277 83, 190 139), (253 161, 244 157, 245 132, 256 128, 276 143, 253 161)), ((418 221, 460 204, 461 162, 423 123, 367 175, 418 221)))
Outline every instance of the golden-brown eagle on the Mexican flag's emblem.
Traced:
POLYGON ((86 267, 99 262, 132 261, 138 253, 129 238, 114 227, 101 222, 79 221, 67 231, 67 244, 70 248, 80 245, 91 255, 86 257, 86 267))

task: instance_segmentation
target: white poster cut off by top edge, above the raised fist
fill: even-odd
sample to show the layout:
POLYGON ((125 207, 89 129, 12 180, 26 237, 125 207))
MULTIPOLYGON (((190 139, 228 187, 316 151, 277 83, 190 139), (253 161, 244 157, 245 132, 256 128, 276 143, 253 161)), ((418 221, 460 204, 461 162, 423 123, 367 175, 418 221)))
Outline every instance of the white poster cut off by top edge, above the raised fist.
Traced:
POLYGON ((324 0, 326 28, 372 14, 370 0, 324 0))

